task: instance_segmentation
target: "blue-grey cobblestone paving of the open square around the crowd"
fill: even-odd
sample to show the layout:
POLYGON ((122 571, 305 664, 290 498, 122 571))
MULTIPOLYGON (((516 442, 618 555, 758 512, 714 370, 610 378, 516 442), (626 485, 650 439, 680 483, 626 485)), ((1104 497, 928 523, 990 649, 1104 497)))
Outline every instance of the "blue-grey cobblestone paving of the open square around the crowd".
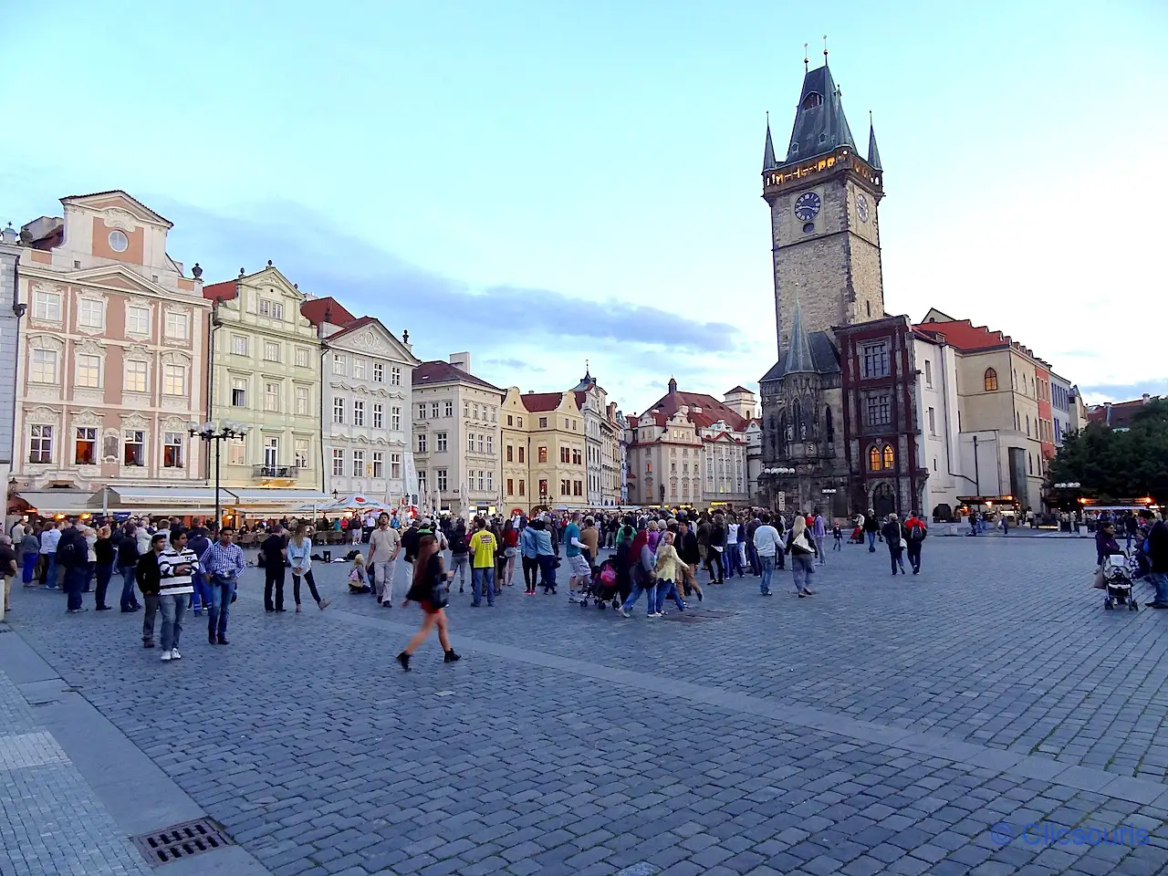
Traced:
POLYGON ((813 598, 777 572, 660 620, 456 585, 464 660, 408 675, 417 610, 342 565, 304 614, 249 571, 231 645, 188 618, 178 663, 56 593, 9 620, 277 876, 1166 871, 1168 617, 1104 612, 1089 542, 827 559, 813 598))

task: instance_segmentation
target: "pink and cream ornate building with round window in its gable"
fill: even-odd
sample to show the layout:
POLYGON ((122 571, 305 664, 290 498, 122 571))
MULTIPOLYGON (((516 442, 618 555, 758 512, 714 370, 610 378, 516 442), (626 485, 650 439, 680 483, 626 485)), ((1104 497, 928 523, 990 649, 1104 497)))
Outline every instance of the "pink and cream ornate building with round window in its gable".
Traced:
POLYGON ((20 231, 16 491, 55 513, 105 485, 201 485, 187 430, 206 412, 202 272, 167 253, 172 223, 125 192, 61 204, 20 231))

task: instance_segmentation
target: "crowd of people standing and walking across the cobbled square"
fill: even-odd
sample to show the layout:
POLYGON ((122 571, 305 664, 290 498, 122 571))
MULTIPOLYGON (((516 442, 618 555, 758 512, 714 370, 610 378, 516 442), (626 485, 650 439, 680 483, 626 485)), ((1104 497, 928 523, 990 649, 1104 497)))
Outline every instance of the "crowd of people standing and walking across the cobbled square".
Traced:
MULTIPOLYGON (((422 628, 398 656, 405 669, 410 668, 410 655, 433 628, 446 660, 459 659, 450 647, 444 610, 450 595, 465 593, 467 586, 470 606, 478 609, 493 606, 500 593, 520 579, 524 595, 535 596, 541 591, 558 593, 566 578, 569 603, 611 602, 627 618, 644 597, 646 616, 660 618, 669 604, 686 611, 688 600, 703 600, 703 584, 717 588, 735 577, 757 578, 760 595, 771 596, 774 572, 788 566, 793 592, 799 598, 812 597, 816 570, 843 544, 839 522, 818 509, 795 514, 763 509, 646 510, 635 515, 568 512, 530 519, 480 515, 471 521, 382 513, 353 521, 347 527, 355 533, 350 549, 339 558, 349 563, 349 592, 371 595, 377 605, 392 609, 395 570, 404 559, 409 578, 397 588, 405 591, 402 604, 417 602, 423 609, 422 628), (606 549, 611 555, 603 557, 606 549), (449 568, 444 558, 447 551, 449 568), (704 580, 700 580, 702 572, 704 580)), ((271 521, 252 528, 258 547, 255 564, 264 570, 265 612, 285 611, 288 572, 297 612, 303 611, 303 584, 319 610, 328 607, 317 586, 313 563, 331 557, 314 551, 314 529, 310 521, 271 521)), ((1164 523, 1134 515, 1101 520, 1097 536, 1100 556, 1119 551, 1117 529, 1128 547, 1135 541, 1142 549, 1141 562, 1157 591, 1153 605, 1168 607, 1164 523)), ((155 647, 161 614, 157 642, 161 659, 181 659, 179 644, 188 609, 195 616, 207 616, 210 644, 228 644, 238 577, 252 564, 235 536, 231 527, 215 533, 197 520, 188 527, 179 519, 165 517, 118 526, 90 526, 83 520, 18 522, 9 535, 0 536, 5 606, 11 610, 11 582, 19 577, 28 588, 63 590, 70 613, 85 610, 82 595, 91 590, 96 610, 109 611, 113 609, 107 602, 110 584, 119 576, 120 611, 145 612, 142 647, 155 647)), ((849 541, 867 541, 869 552, 883 544, 894 576, 906 575, 910 568, 918 575, 926 536, 927 524, 919 514, 902 521, 896 514, 881 517, 869 509, 857 515, 849 541)))

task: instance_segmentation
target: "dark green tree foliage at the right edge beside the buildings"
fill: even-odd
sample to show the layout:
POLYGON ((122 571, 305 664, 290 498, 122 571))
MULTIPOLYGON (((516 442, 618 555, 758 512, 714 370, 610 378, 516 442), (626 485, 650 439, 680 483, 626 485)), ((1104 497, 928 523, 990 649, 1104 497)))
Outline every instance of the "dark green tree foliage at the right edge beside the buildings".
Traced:
POLYGON ((1152 496, 1168 503, 1168 401, 1149 402, 1127 430, 1089 423, 1066 436, 1050 463, 1048 486, 1066 481, 1103 500, 1152 496))

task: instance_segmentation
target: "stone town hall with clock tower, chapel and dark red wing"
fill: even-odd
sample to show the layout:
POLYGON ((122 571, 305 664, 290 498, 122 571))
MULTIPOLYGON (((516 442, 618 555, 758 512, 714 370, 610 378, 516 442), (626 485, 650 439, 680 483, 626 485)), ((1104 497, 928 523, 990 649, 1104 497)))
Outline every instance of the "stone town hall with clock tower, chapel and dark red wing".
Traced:
POLYGON ((863 158, 825 53, 805 71, 786 151, 767 125, 763 153, 779 361, 759 381, 759 489, 773 507, 844 516, 923 500, 912 327, 884 313, 883 196, 875 132, 863 158))

